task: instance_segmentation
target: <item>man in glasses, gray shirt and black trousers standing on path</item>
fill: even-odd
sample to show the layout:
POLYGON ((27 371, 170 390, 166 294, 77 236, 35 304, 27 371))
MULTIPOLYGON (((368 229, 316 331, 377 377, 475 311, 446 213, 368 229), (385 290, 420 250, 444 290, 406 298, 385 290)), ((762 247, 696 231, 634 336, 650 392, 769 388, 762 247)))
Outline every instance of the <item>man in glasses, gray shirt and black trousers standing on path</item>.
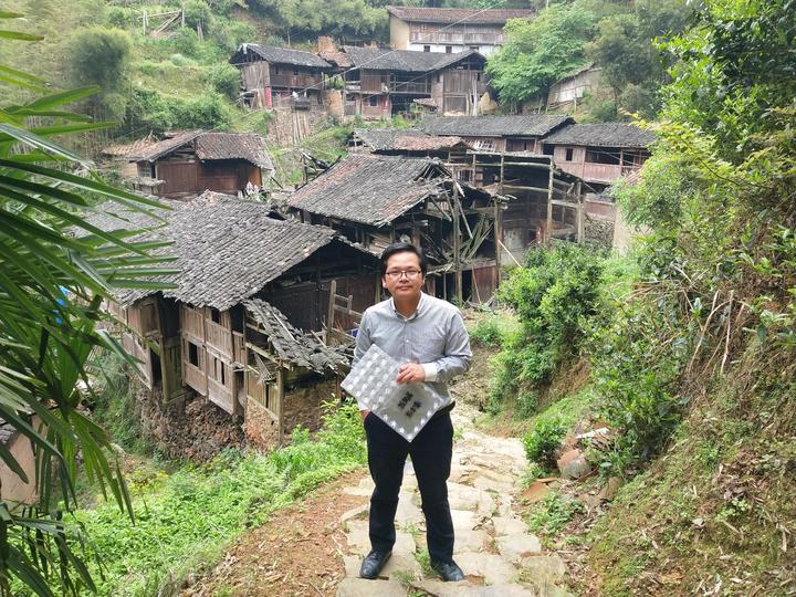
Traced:
POLYGON ((391 298, 365 311, 357 334, 354 364, 376 344, 401 363, 399 384, 425 381, 447 400, 411 442, 359 405, 368 467, 376 483, 370 498, 371 551, 359 569, 363 578, 376 578, 392 553, 398 491, 407 455, 411 455, 422 499, 431 566, 444 580, 464 578, 453 562, 453 523, 448 504, 453 402, 447 381, 470 367, 472 353, 459 310, 421 291, 426 271, 426 258, 417 247, 406 242, 387 247, 381 254, 381 284, 391 298))

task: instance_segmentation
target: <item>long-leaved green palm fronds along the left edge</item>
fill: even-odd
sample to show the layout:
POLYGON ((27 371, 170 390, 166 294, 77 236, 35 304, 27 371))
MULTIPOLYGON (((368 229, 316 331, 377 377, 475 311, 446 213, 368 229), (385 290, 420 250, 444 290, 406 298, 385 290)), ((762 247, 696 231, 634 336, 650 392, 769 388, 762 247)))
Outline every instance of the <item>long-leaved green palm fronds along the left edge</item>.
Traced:
MULTIPOLYGON (((0 12, 1 19, 17 17, 0 12)), ((0 38, 36 39, 8 31, 0 38)), ((111 440, 78 409, 77 383, 88 384, 90 353, 104 347, 124 355, 96 328, 101 302, 114 287, 166 287, 148 280, 172 270, 160 266, 165 258, 148 253, 158 244, 128 241, 130 232, 106 233, 82 216, 100 199, 133 210, 158 205, 95 175, 69 172, 70 166, 91 171, 93 165, 49 139, 106 126, 63 108, 98 88, 42 95, 42 80, 3 65, 0 81, 39 95, 0 109, 0 418, 31 442, 38 490, 38 502, 22 511, 0 502, 0 594, 27 587, 43 596, 54 595, 53 588, 77 595, 94 589, 80 551, 83 537, 70 519, 77 505, 78 454, 87 479, 104 494, 109 490, 132 516, 111 440), (29 118, 34 128, 27 126, 29 118)), ((0 459, 29 480, 4 444, 0 459)))

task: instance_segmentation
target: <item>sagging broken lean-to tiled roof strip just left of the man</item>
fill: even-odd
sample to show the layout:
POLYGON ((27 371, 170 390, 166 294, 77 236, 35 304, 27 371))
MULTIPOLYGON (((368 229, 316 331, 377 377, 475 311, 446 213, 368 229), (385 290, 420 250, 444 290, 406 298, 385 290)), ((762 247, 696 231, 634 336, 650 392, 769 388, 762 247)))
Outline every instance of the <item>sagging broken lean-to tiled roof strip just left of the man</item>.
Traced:
POLYGON ((284 314, 260 298, 243 303, 247 311, 260 324, 273 350, 283 362, 306 367, 317 373, 339 371, 347 367, 348 358, 341 352, 323 344, 312 334, 296 329, 284 314))

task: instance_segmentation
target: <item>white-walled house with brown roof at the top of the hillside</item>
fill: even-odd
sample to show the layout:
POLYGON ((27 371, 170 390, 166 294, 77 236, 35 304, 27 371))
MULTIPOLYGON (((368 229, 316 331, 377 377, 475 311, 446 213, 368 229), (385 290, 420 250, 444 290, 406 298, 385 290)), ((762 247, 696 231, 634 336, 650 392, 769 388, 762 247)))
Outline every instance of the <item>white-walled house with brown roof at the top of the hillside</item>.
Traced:
POLYGON ((531 10, 387 7, 390 46, 395 50, 458 53, 495 52, 504 41, 509 19, 533 15, 531 10))

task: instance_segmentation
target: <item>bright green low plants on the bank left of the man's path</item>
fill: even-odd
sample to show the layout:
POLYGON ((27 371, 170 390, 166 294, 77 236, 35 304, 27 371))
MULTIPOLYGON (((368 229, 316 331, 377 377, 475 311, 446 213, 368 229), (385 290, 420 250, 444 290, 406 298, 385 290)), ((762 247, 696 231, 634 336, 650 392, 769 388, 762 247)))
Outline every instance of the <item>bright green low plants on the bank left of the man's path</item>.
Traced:
POLYGON ((269 454, 227 450, 208 464, 186 464, 139 483, 133 492, 134 527, 111 507, 81 511, 76 520, 106 566, 98 593, 177 588, 190 572, 212 564, 240 533, 365 461, 356 406, 329 402, 315 440, 297 429, 289 446, 269 454))

